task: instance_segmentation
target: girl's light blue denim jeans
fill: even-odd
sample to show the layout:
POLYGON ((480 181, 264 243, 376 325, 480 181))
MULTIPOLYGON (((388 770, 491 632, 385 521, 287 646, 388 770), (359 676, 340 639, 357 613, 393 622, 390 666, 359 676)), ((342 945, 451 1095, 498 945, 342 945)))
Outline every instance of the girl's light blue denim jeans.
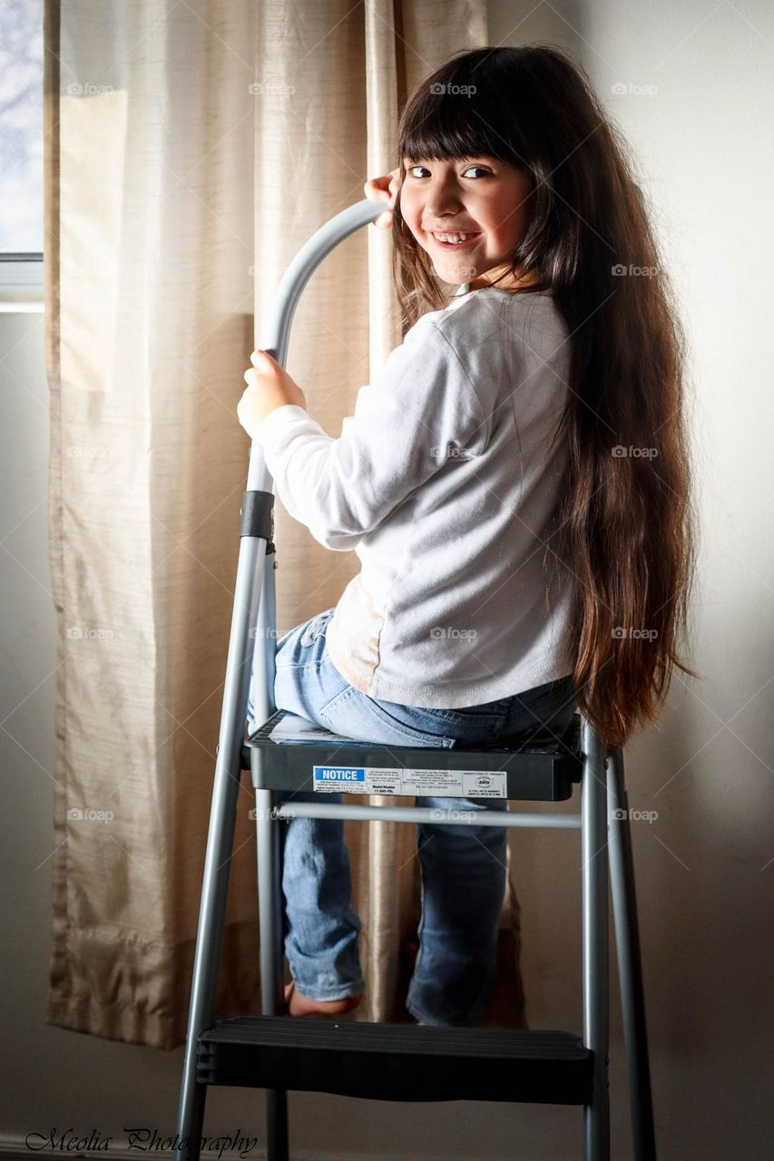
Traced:
MULTIPOLYGON (((561 734, 575 712, 572 679, 461 709, 380 701, 338 672, 325 649, 334 610, 318 613, 278 642, 274 702, 336 734, 395 745, 503 745, 540 727, 561 734)), ((252 698, 252 695, 251 695, 252 698)), ((256 729, 252 700, 249 729, 256 729)), ((275 802, 320 802, 320 794, 277 792, 275 802)), ((325 794, 341 802, 341 794, 325 794)), ((416 798, 438 810, 506 810, 507 799, 416 798)), ((358 958, 360 920, 351 906, 343 819, 278 823, 284 835, 285 954, 296 988, 311 1000, 365 990, 358 958)), ((417 823, 422 873, 420 951, 406 1007, 421 1024, 475 1026, 496 972, 506 890, 504 827, 417 823)))

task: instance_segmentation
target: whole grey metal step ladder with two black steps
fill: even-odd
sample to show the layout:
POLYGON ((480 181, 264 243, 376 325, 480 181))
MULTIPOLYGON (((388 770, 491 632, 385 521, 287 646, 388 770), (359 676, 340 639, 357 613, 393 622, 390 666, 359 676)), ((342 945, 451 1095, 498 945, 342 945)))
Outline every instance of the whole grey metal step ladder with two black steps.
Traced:
MULTIPOLYGON (((371 201, 321 228, 288 267, 271 340, 263 348, 285 365, 301 289, 325 254, 384 212, 371 201)), ((175 1161, 199 1161, 210 1086, 266 1091, 266 1155, 287 1161, 288 1090, 379 1101, 503 1101, 582 1105, 583 1158, 610 1155, 608 1099, 608 892, 611 890, 636 1161, 655 1159, 635 874, 619 749, 603 753, 581 714, 566 734, 533 736, 513 749, 394 747, 346 741, 278 741, 273 700, 275 548, 273 495, 260 446, 250 453, 242 504, 239 557, 225 669, 220 738, 194 956, 175 1161), (255 654, 255 664, 253 664, 255 654), (245 738, 252 672, 256 721, 245 738), (324 771, 323 769, 324 767, 324 771), (581 832, 582 1032, 374 1024, 284 1015, 281 843, 277 825, 292 817, 449 822, 423 807, 325 802, 331 771, 465 770, 495 776, 515 802, 559 802, 580 787, 580 814, 476 810, 476 825, 549 827, 581 832), (261 1011, 215 1019, 237 799, 243 772, 256 794, 261 1011), (323 780, 323 774, 325 780, 323 780), (320 789, 320 802, 278 805, 279 792, 320 789)), ((482 784, 483 785, 483 784, 482 784)), ((458 794, 463 792, 459 791, 458 794)), ((444 795, 446 792, 444 791, 444 795)), ((447 796, 453 796, 449 794, 447 796)), ((460 824, 454 819, 454 824, 460 824)), ((465 824, 465 823, 463 823, 465 824)), ((385 1149, 389 1142, 385 1142, 385 1149)))

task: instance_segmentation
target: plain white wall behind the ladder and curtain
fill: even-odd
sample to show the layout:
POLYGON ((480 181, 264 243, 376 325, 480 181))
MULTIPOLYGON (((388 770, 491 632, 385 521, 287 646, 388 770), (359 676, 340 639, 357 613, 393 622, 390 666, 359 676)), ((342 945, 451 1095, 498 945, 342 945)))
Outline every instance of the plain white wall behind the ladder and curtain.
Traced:
MULTIPOLYGON (((452 6, 453 8, 453 6, 452 6)), ((551 41, 597 85, 642 161, 693 345, 702 521, 694 613, 701 682, 675 679, 661 731, 628 752, 660 1156, 771 1155, 774 899, 774 14, 764 0, 679 5, 490 2, 489 43, 551 41), (655 85, 614 96, 615 82, 655 85)), ((55 616, 48 564, 48 388, 40 315, 0 315, 0 587, 6 1051, 0 1126, 26 1133, 174 1131, 182 1050, 44 1024, 48 987, 55 616), (10 1055, 13 1048, 13 1057, 10 1055)), ((108 723, 106 722, 106 727, 108 723)), ((578 835, 518 834, 532 1026, 579 1027, 578 835)), ((615 958, 611 957, 615 981, 615 958)), ((612 1156, 630 1156, 614 990, 612 1156)), ((291 1096, 294 1156, 579 1158, 574 1109, 395 1106, 291 1096)), ((213 1090, 206 1132, 264 1133, 263 1094, 213 1090)), ((253 1154, 255 1155, 255 1154, 253 1154)))

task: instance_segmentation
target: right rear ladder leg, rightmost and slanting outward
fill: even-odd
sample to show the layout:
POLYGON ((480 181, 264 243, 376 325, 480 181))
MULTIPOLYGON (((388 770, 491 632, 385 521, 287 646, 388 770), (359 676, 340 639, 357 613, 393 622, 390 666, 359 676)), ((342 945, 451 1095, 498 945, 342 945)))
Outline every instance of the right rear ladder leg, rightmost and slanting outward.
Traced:
POLYGON ((629 1069, 635 1161, 655 1161, 655 1130, 645 1023, 643 962, 637 921, 635 863, 629 829, 629 802, 624 785, 623 753, 619 749, 612 750, 608 763, 608 814, 610 817, 610 880, 629 1069))

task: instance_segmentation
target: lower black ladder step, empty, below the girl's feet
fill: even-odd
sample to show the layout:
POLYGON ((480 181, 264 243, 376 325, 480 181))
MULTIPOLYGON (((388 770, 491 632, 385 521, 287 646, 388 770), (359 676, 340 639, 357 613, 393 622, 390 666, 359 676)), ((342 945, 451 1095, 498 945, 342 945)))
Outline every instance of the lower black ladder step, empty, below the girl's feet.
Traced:
POLYGON ((245 1014, 200 1034, 196 1080, 372 1101, 587 1104, 592 1070, 572 1032, 245 1014))

